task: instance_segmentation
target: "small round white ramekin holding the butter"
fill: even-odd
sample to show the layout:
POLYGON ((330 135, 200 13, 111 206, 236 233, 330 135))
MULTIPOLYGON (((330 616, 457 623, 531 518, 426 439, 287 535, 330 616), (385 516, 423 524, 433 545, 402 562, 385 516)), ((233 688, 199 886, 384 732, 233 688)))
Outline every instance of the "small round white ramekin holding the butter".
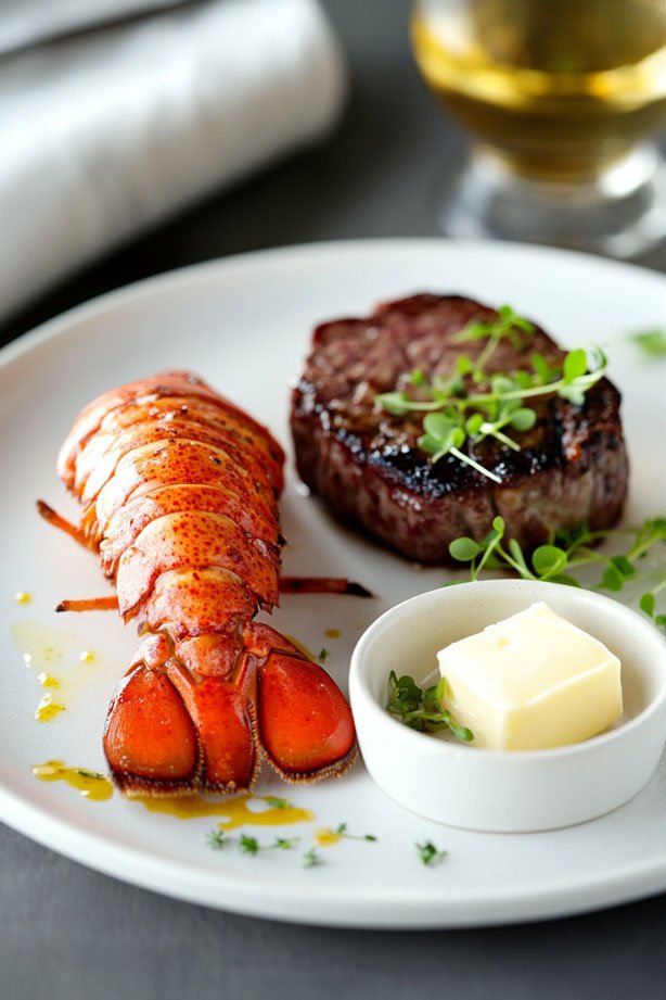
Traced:
POLYGON ((363 633, 349 689, 363 760, 377 785, 406 809, 466 830, 555 830, 603 815, 646 784, 666 739, 662 633, 616 600, 562 584, 490 580, 412 597, 363 633), (553 749, 485 750, 418 733, 386 711, 392 670, 423 681, 437 671, 443 646, 537 600, 619 657, 625 711, 613 729, 553 749))

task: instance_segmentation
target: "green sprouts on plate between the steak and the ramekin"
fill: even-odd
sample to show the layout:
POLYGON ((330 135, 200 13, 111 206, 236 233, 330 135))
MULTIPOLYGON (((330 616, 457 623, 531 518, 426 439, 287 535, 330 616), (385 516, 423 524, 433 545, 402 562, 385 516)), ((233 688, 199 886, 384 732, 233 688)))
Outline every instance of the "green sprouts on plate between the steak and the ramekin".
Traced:
POLYGON ((591 531, 578 526, 554 533, 547 545, 539 545, 527 556, 515 539, 504 541, 504 519, 496 517, 492 528, 482 542, 473 539, 456 539, 449 545, 449 553, 459 562, 470 564, 471 580, 478 580, 484 569, 512 569, 523 580, 548 580, 551 583, 567 583, 580 586, 571 575, 572 570, 585 566, 599 566, 603 570, 595 586, 613 592, 622 591, 627 583, 652 583, 640 596, 639 607, 655 624, 666 628, 666 615, 656 613, 656 597, 666 590, 664 569, 649 569, 639 572, 637 561, 648 555, 659 542, 666 542, 666 517, 655 517, 638 528, 619 528, 591 531), (607 555, 593 546, 601 541, 628 540, 624 552, 607 555))

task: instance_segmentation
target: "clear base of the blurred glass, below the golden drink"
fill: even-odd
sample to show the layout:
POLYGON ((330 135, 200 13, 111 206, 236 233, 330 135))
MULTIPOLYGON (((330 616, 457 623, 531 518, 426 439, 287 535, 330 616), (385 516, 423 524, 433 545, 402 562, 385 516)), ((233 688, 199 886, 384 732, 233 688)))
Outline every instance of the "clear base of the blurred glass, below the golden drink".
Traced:
POLYGON ((666 163, 655 148, 641 147, 593 180, 545 181, 477 148, 439 224, 447 236, 636 257, 666 240, 666 163))

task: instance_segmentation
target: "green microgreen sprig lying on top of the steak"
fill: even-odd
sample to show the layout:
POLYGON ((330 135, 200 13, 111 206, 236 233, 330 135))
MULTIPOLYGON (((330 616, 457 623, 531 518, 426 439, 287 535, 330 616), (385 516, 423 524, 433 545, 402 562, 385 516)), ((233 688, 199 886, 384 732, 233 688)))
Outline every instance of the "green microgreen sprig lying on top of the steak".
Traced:
POLYGON ((445 455, 452 455, 500 483, 502 480, 485 468, 473 455, 470 446, 486 438, 520 451, 521 445, 505 430, 520 433, 530 430, 537 419, 536 412, 526 401, 538 396, 558 395, 579 406, 585 393, 605 374, 607 360, 600 347, 578 347, 565 354, 561 366, 552 366, 538 352, 529 355, 529 369, 505 374, 488 374, 486 366, 504 338, 514 346, 525 350, 525 336, 530 337, 534 326, 517 316, 511 306, 498 309, 491 322, 475 322, 451 337, 453 343, 486 340, 476 359, 460 354, 456 374, 451 378, 435 377, 428 381, 420 369, 412 371, 411 391, 384 392, 375 401, 394 416, 423 413, 423 434, 419 445, 427 452, 434 464, 445 455), (468 452, 461 451, 468 446, 468 452))

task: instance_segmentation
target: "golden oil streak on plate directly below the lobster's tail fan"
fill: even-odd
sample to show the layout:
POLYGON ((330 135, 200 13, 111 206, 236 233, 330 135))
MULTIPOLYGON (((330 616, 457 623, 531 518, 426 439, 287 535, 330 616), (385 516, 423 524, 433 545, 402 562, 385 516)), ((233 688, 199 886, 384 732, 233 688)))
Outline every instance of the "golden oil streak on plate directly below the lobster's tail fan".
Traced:
POLYGON ((291 806, 289 802, 271 806, 276 801, 271 796, 239 795, 232 799, 205 799, 201 796, 187 796, 182 798, 154 799, 148 796, 137 796, 133 801, 139 801, 150 812, 163 812, 178 817, 180 820, 193 820, 197 817, 223 817, 219 823, 220 830, 235 830, 238 826, 286 826, 291 823, 307 823, 315 819, 315 813, 309 809, 291 806), (248 803, 261 803, 268 808, 251 809, 248 803))

